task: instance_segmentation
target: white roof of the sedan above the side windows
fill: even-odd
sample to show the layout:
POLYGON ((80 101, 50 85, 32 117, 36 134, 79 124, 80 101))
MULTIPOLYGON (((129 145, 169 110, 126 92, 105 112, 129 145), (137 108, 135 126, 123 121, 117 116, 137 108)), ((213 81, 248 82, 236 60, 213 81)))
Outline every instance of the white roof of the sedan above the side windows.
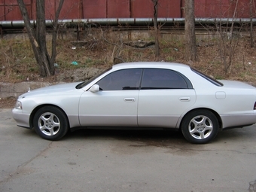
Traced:
POLYGON ((112 66, 112 69, 130 68, 190 69, 190 66, 177 62, 123 62, 112 66))

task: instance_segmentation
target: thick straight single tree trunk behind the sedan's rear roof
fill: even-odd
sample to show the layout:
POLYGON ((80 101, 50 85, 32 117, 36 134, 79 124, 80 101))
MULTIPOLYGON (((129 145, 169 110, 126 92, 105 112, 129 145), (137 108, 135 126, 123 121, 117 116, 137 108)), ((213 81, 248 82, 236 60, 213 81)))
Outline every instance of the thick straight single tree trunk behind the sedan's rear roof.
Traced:
POLYGON ((185 0, 185 56, 187 61, 197 61, 197 42, 195 33, 194 0, 185 0))

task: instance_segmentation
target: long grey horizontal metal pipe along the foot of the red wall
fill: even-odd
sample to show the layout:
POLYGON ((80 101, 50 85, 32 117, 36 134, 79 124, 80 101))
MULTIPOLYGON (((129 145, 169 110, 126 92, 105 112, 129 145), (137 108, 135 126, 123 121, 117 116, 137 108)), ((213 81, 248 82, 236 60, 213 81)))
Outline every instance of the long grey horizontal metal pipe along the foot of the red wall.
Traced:
MULTIPOLYGON (((159 23, 166 25, 181 23, 184 24, 184 18, 157 18, 159 23)), ((32 26, 36 25, 35 20, 30 21, 32 26)), ((45 20, 46 26, 52 26, 52 20, 45 20)), ((251 23, 250 18, 196 18, 196 24, 214 24, 214 23, 251 23)), ((256 18, 252 19, 256 23, 256 18)), ((58 20, 59 24, 65 23, 97 23, 105 26, 129 25, 129 26, 148 26, 153 25, 153 18, 102 18, 102 19, 74 19, 74 20, 58 20)), ((0 21, 0 26, 4 28, 23 28, 25 27, 23 20, 0 21)))

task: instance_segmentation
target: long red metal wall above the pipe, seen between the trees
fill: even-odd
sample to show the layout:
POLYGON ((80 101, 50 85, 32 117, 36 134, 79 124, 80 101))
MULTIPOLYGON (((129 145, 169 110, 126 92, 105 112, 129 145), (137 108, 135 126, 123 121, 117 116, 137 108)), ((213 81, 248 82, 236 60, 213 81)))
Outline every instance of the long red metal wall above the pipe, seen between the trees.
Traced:
MULTIPOLYGON (((36 0, 24 2, 29 17, 35 20, 36 0)), ((195 0, 195 16, 249 18, 249 2, 250 0, 195 0)), ((53 19, 58 5, 59 0, 45 0, 47 20, 53 19)), ((158 17, 184 17, 183 7, 184 0, 159 0, 158 17)), ((255 6, 253 13, 255 17, 255 6)), ((59 19, 147 17, 154 17, 151 0, 65 0, 59 19)), ((0 20, 23 20, 16 0, 0 0, 0 20)))

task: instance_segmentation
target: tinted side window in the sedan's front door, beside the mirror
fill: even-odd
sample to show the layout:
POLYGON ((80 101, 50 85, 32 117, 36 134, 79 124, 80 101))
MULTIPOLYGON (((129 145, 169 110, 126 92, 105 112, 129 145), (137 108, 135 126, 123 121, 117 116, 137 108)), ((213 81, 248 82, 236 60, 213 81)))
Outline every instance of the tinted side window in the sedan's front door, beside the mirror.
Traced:
POLYGON ((100 81, 101 90, 139 90, 142 69, 123 69, 105 76, 100 81))

